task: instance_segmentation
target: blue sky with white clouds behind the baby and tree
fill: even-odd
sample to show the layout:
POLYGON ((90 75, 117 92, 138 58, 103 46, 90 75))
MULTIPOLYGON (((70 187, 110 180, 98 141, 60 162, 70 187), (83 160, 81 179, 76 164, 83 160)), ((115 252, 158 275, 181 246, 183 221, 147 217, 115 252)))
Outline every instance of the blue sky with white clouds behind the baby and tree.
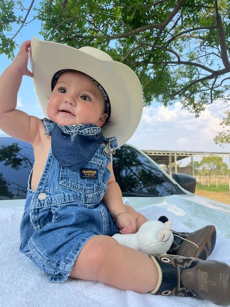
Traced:
MULTIPOLYGON (((24 27, 16 37, 20 45, 24 40, 37 36, 40 31, 40 23, 33 21, 24 27)), ((15 54, 18 52, 18 47, 15 54)), ((11 63, 7 56, 0 55, 0 73, 11 63)), ((178 150, 178 151, 207 151, 230 152, 230 144, 225 148, 214 144, 213 137, 217 131, 221 131, 219 125, 224 112, 230 110, 227 105, 214 102, 207 106, 199 118, 181 109, 178 101, 168 108, 161 107, 153 102, 150 107, 143 109, 142 119, 136 132, 128 143, 140 149, 151 150, 178 150)), ((43 113, 36 98, 32 78, 23 77, 18 92, 18 108, 30 115, 42 118, 43 113)), ((0 130, 0 134, 3 133, 0 130)), ((197 159, 199 160, 199 159, 197 159)), ((230 165, 229 159, 224 159, 230 165)), ((186 160, 183 164, 189 163, 186 160)))

